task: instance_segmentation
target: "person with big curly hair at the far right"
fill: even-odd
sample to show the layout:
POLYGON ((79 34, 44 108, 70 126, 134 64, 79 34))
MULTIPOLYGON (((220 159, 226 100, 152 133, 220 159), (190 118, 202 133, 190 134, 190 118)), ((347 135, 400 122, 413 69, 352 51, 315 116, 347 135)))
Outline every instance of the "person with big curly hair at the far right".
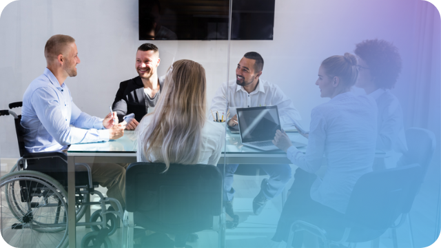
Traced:
POLYGON ((366 40, 356 45, 358 56, 357 87, 376 100, 378 106, 378 135, 376 149, 391 154, 383 160, 376 158, 373 169, 394 167, 401 153, 407 151, 400 101, 391 93, 401 72, 398 49, 384 40, 366 40))

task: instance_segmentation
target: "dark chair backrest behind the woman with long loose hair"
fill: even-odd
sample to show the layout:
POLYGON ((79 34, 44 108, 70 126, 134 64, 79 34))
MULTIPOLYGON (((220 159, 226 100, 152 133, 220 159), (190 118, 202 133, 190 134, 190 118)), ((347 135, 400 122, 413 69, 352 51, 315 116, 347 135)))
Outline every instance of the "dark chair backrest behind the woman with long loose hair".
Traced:
POLYGON ((222 204, 222 176, 213 165, 132 163, 125 177, 125 205, 136 225, 170 234, 212 227, 222 204))

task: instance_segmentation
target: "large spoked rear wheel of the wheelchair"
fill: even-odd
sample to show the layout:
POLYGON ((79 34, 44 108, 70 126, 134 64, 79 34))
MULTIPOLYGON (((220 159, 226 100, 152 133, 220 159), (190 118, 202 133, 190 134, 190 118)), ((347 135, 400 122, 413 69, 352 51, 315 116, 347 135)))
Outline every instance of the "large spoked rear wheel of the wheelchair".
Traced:
POLYGON ((20 171, 0 180, 3 239, 12 247, 65 247, 68 194, 50 176, 20 171))

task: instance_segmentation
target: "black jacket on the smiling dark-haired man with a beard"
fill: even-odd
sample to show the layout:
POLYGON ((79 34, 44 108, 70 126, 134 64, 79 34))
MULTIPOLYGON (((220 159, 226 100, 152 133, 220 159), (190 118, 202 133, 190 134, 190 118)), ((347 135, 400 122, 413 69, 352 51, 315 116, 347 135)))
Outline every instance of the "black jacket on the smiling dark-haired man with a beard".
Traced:
POLYGON ((135 114, 136 121, 141 119, 147 114, 148 107, 154 107, 156 101, 163 88, 164 76, 159 78, 159 91, 154 96, 154 99, 150 99, 144 93, 143 81, 140 76, 136 76, 134 79, 123 81, 119 84, 119 90, 116 92, 115 101, 112 104, 112 110, 118 115, 119 122, 123 121, 123 116, 127 114, 135 114))

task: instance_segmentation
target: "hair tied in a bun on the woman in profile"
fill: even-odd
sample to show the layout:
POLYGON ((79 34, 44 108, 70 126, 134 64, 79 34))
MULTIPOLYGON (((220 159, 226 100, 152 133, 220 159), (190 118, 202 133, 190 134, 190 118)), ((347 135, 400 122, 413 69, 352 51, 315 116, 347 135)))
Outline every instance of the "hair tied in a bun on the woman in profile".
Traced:
POLYGON ((349 52, 346 52, 344 56, 330 56, 322 62, 322 67, 325 69, 327 76, 331 78, 334 76, 340 77, 342 87, 350 88, 357 81, 357 59, 349 52))

